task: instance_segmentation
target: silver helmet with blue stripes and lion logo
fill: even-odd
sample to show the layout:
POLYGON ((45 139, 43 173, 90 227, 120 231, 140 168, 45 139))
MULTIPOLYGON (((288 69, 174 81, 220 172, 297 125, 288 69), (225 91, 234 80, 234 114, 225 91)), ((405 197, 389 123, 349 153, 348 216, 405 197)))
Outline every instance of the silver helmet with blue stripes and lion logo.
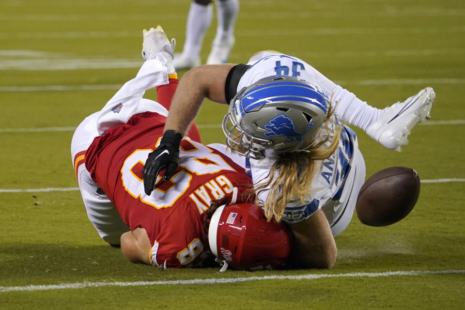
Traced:
POLYGON ((226 144, 254 159, 306 149, 325 122, 329 99, 310 83, 290 77, 262 78, 231 100, 223 119, 226 144))

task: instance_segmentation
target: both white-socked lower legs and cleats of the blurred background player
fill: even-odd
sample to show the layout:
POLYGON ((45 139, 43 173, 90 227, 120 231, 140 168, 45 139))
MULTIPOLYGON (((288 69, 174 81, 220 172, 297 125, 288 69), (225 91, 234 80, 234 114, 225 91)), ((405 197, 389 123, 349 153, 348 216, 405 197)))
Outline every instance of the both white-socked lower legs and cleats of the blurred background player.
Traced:
MULTIPOLYGON (((191 2, 186 23, 186 41, 182 53, 175 54, 176 70, 191 69, 201 64, 200 52, 203 38, 213 18, 211 0, 194 0, 191 2)), ((216 0, 217 33, 212 43, 212 50, 207 64, 224 63, 234 45, 234 24, 239 12, 239 0, 216 0)))

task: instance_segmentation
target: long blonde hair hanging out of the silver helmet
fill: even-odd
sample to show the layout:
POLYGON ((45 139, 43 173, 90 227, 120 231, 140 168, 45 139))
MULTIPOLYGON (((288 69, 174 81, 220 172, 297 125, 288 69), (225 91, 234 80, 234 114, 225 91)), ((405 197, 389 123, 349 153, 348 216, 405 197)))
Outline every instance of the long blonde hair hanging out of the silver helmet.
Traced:
POLYGON ((319 171, 323 160, 333 155, 339 145, 342 126, 332 117, 333 112, 334 107, 330 105, 324 125, 306 150, 278 155, 278 159, 265 177, 268 181, 255 187, 255 203, 264 207, 268 220, 274 216, 279 222, 286 205, 291 200, 300 199, 303 203, 304 198, 313 190, 311 182, 315 173, 319 171), (329 145, 327 145, 328 141, 329 145), (261 202, 258 196, 264 191, 268 191, 268 196, 264 202, 261 202))

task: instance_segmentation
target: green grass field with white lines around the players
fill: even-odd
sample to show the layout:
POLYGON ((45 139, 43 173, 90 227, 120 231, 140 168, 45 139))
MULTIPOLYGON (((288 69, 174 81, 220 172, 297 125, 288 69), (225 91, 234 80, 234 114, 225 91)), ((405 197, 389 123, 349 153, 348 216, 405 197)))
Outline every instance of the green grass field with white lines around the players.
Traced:
MULTIPOLYGON (((182 50, 189 3, 0 1, 0 309, 464 309, 463 0, 241 1, 230 62, 279 50, 379 108, 436 91, 402 153, 356 130, 367 176, 407 166, 423 183, 399 223, 354 216, 331 270, 159 271, 100 239, 76 190, 74 128, 135 76, 142 29, 161 24, 182 50)), ((224 141, 226 109, 204 104, 203 142, 224 141)))

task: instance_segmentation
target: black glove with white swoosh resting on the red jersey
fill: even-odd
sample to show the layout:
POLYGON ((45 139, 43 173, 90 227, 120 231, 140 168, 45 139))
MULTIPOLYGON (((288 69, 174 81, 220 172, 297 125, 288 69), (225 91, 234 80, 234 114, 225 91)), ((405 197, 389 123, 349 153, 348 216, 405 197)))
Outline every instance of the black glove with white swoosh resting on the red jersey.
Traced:
POLYGON ((149 154, 145 161, 142 176, 144 178, 144 190, 147 195, 154 190, 158 173, 166 169, 163 180, 168 181, 173 176, 179 164, 179 145, 183 135, 175 130, 167 130, 160 140, 160 145, 149 154))

